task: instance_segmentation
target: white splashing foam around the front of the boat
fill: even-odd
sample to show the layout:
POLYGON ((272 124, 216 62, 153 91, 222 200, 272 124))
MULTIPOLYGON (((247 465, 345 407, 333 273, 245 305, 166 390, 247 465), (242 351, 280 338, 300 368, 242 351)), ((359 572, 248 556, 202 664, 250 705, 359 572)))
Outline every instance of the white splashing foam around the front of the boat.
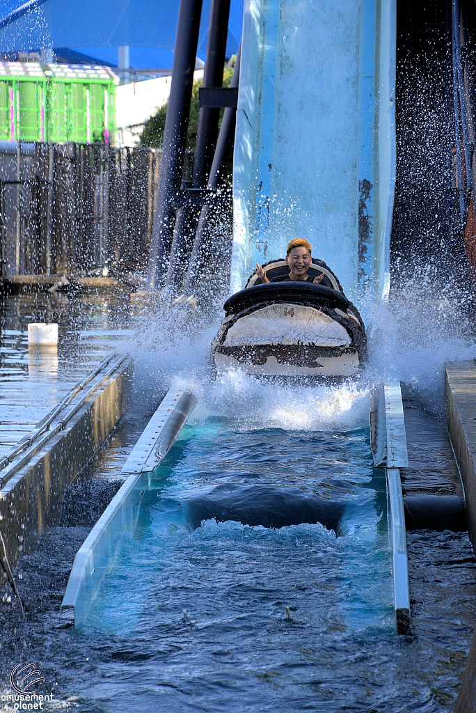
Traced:
POLYGON ((215 377, 209 344, 219 325, 192 329, 193 319, 170 309, 148 318, 135 340, 135 401, 150 410, 170 386, 199 398, 192 422, 232 419, 242 429, 351 430, 368 424, 368 393, 375 384, 400 379, 425 406, 443 411, 443 374, 448 361, 476 356, 475 329, 457 299, 432 299, 413 285, 388 303, 368 302, 369 364, 359 379, 341 385, 271 382, 229 371, 215 377))

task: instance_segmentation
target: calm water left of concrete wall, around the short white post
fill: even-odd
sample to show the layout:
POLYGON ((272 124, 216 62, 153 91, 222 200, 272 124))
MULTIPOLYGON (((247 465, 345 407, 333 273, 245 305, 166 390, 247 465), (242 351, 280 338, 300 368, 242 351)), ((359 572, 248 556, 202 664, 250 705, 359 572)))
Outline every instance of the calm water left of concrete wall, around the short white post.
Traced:
MULTIPOLYGON (((127 311, 126 311, 127 310, 127 311)), ((0 299, 0 454, 7 453, 133 334, 117 297, 23 294, 0 299), (28 324, 58 324, 57 347, 29 347, 28 324)))

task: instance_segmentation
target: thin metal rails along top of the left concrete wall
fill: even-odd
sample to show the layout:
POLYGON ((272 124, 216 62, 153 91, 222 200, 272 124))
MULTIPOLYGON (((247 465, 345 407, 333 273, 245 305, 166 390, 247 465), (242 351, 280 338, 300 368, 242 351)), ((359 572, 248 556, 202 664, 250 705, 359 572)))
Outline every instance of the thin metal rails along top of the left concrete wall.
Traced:
POLYGON ((83 379, 80 384, 77 384, 77 386, 69 392, 66 398, 61 401, 61 404, 56 406, 55 409, 53 409, 53 411, 51 411, 45 419, 38 424, 38 428, 33 431, 33 434, 22 438, 21 441, 12 449, 12 451, 7 453, 6 456, 2 458, 0 461, 0 488, 3 488, 11 476, 14 476, 20 468, 23 468, 23 466, 25 466, 26 463, 28 463, 28 461, 33 458, 33 456, 38 453, 38 451, 40 451, 41 448, 48 443, 48 441, 51 440, 51 438, 66 428, 68 421, 70 421, 73 416, 78 413, 79 409, 81 409, 86 401, 88 401, 90 396, 92 396, 94 392, 97 391, 99 387, 110 378, 110 376, 112 376, 114 371, 116 371, 119 366, 129 358, 126 354, 121 356, 117 361, 114 361, 112 366, 110 366, 110 368, 100 376, 100 379, 95 381, 93 386, 91 386, 91 388, 88 389, 83 396, 81 396, 81 399, 79 399, 76 404, 74 404, 73 408, 68 411, 68 413, 60 421, 58 421, 55 426, 53 426, 53 428, 51 428, 51 424, 53 424, 53 421, 59 414, 61 414, 61 411, 63 411, 68 404, 71 404, 71 401, 73 401, 75 396, 77 396, 78 393, 90 383, 90 381, 93 381, 94 377, 100 374, 100 371, 103 371, 105 366, 107 366, 115 356, 117 356, 117 354, 111 354, 107 359, 102 361, 101 364, 99 364, 99 366, 86 377, 86 379, 83 379), (23 455, 17 458, 16 456, 19 456, 22 451, 24 451, 23 455))

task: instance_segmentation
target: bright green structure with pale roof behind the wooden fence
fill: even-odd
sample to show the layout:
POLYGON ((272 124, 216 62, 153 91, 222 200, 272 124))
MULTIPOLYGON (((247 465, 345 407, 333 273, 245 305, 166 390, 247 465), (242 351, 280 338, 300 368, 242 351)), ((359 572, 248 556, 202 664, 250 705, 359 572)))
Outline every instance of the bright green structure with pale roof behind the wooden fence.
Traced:
POLYGON ((108 67, 0 62, 0 140, 112 143, 117 83, 108 67))

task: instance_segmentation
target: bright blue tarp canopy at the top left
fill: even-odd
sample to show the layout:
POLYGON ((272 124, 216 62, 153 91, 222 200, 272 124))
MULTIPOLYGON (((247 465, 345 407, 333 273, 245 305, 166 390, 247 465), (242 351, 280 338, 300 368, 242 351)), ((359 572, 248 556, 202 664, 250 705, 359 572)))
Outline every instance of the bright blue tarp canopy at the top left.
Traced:
MULTIPOLYGON (((210 1, 203 2, 200 56, 205 56, 207 46, 210 1)), ((179 0, 39 0, 36 4, 4 0, 0 10, 0 51, 71 47, 116 63, 117 46, 130 45, 131 66, 161 66, 157 59, 171 58, 170 50, 175 45, 179 4, 179 0), (24 14, 1 26, 3 19, 22 7, 24 14)), ((237 51, 242 14, 243 0, 232 0, 228 54, 237 51)), ((170 66, 170 61, 162 66, 170 66)))

